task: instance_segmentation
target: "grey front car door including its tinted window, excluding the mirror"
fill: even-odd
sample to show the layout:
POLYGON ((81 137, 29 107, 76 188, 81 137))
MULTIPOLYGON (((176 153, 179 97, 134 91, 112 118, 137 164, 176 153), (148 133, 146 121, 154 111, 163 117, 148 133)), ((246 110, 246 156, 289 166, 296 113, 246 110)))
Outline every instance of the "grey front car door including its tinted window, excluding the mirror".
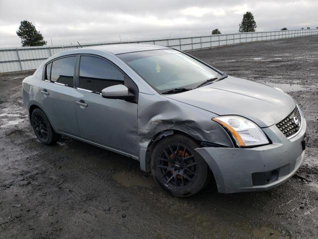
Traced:
POLYGON ((77 74, 76 91, 80 97, 76 115, 81 137, 139 155, 137 102, 105 99, 100 94, 106 87, 125 84, 138 97, 137 86, 117 66, 102 57, 81 55, 77 74))

